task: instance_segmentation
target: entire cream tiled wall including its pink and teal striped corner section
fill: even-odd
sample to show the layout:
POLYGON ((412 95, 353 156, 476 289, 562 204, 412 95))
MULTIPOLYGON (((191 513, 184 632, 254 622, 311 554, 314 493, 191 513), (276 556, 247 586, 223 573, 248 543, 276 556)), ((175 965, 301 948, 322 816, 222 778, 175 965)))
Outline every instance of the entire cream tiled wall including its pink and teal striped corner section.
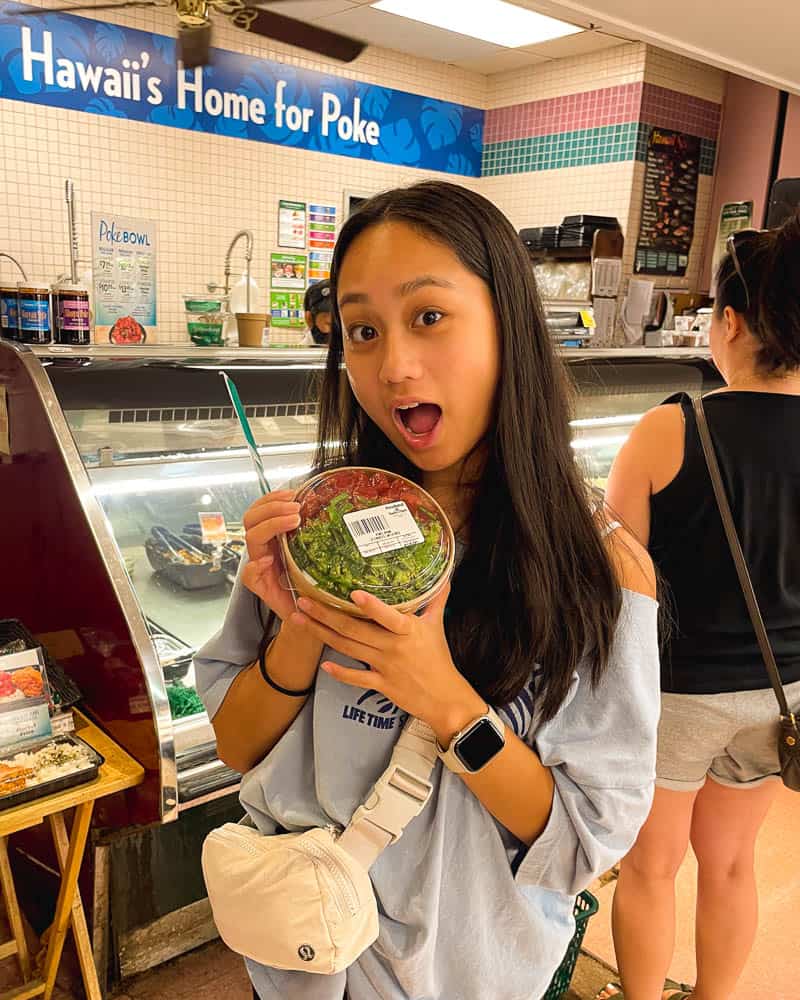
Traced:
MULTIPOLYGON (((163 12, 115 15, 163 34, 163 12)), ((260 58, 330 71, 297 50, 263 45, 218 20, 214 44, 260 58)), ((635 236, 642 199, 644 125, 680 128, 705 141, 697 231, 709 223, 711 172, 725 74, 639 43, 559 59, 493 77, 388 50, 369 49, 336 73, 488 108, 484 176, 471 183, 517 228, 558 223, 576 211, 614 215, 635 236), (652 119, 652 121, 650 121, 652 119)), ((253 273, 265 304, 277 201, 341 207, 344 191, 374 192, 423 171, 95 117, 0 99, 0 247, 32 276, 67 267, 64 179, 75 181, 82 256, 93 210, 154 220, 159 227, 159 337, 184 341, 181 293, 220 281, 234 232, 255 234, 253 273), (179 238, 176 238, 176 234, 179 238), (180 249, 178 249, 180 247, 180 249)), ((628 239, 626 264, 632 266, 628 239)), ((702 245, 703 240, 696 241, 702 245)), ((692 254, 691 284, 702 253, 692 254)), ((0 264, 0 267, 5 265, 0 264)), ((234 266, 236 271, 236 265, 234 266)), ((8 277, 5 270, 0 277, 8 277)))

